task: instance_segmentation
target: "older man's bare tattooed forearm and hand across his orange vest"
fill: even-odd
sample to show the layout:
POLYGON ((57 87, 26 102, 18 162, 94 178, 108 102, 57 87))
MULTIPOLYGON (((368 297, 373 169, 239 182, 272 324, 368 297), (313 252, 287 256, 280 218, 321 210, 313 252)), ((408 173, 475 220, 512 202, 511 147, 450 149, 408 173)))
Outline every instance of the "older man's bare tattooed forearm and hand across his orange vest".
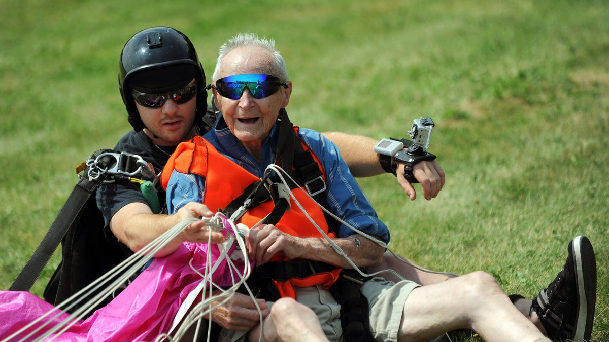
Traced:
MULTIPOLYGON (((359 235, 332 239, 347 254, 357 267, 379 265, 384 248, 359 235)), ((247 253, 261 265, 277 254, 289 259, 309 259, 323 261, 342 268, 353 266, 340 256, 328 240, 312 237, 296 237, 286 234, 273 225, 264 225, 248 232, 246 237, 247 253)))

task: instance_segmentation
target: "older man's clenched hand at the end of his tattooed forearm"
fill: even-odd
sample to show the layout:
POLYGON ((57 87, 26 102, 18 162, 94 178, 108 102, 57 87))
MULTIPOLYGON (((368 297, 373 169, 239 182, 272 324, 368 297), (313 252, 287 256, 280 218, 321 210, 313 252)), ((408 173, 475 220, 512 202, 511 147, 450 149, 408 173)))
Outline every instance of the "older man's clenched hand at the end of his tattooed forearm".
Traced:
POLYGON ((273 225, 262 225, 251 229, 245 236, 245 246, 250 260, 262 265, 272 256, 281 253, 288 259, 295 259, 303 251, 301 239, 280 231, 273 225))

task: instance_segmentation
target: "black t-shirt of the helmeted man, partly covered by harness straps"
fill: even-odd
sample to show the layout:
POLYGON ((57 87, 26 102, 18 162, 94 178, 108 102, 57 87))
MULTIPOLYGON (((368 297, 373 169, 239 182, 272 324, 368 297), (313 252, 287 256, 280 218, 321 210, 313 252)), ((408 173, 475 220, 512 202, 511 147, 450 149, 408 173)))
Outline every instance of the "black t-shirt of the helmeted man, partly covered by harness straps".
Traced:
MULTIPOLYGON (((130 131, 119 140, 115 150, 141 156, 145 161, 152 163, 155 173, 161 172, 174 152, 175 146, 157 146, 146 136, 144 131, 130 131)), ((166 211, 165 192, 157 186, 158 200, 163 211, 166 211)), ((105 226, 119 209, 129 203, 141 202, 148 204, 139 189, 138 183, 104 184, 97 189, 97 207, 104 215, 105 226)))

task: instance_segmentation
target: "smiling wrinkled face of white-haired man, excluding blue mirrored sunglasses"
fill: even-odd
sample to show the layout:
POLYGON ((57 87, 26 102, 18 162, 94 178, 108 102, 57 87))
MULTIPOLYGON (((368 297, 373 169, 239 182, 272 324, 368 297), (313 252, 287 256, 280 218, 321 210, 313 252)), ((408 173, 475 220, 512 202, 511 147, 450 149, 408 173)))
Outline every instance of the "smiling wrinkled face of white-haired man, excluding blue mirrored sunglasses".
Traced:
MULTIPOLYGON (((231 75, 267 74, 272 55, 259 47, 241 47, 229 52, 220 64, 220 78, 231 75)), ((292 92, 292 82, 288 88, 262 99, 255 99, 245 88, 240 99, 232 100, 214 90, 218 109, 228 128, 246 148, 260 147, 269 136, 281 108, 287 106, 292 92)), ((249 150, 249 148, 248 148, 249 150)), ((250 153, 252 151, 250 150, 250 153)))

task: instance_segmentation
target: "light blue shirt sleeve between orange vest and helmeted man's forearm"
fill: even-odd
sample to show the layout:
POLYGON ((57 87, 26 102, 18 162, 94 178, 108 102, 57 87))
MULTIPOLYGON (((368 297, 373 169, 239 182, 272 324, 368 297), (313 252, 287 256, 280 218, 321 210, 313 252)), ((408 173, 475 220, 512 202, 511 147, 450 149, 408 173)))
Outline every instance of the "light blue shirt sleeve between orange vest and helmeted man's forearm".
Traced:
POLYGON ((189 202, 203 203, 205 178, 176 170, 167 183, 167 212, 174 214, 189 202))

